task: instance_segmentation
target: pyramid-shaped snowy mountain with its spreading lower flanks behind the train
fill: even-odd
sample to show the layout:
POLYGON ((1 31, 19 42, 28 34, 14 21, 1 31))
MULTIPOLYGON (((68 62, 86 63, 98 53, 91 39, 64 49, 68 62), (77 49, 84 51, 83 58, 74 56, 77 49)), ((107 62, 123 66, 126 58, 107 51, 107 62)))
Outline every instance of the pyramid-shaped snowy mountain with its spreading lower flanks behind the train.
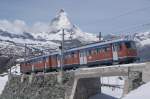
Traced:
POLYGON ((83 32, 69 20, 67 13, 61 9, 50 22, 46 32, 33 33, 37 39, 62 40, 62 29, 65 31, 65 40, 78 39, 82 43, 97 41, 96 35, 83 32))

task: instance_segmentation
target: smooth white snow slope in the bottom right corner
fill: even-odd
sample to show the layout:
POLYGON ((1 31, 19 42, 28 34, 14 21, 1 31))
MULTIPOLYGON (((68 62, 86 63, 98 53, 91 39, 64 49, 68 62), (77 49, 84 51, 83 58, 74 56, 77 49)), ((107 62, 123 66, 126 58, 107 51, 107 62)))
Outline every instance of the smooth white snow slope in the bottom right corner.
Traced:
POLYGON ((123 99, 149 99, 150 98, 150 82, 142 85, 136 90, 131 91, 123 99))

